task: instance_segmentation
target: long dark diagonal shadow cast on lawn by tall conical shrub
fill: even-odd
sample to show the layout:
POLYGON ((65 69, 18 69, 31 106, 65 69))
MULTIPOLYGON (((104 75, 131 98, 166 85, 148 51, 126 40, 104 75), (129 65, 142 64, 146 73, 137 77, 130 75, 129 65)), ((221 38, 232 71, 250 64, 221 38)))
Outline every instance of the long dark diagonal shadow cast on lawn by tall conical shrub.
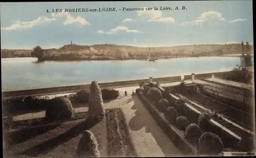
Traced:
POLYGON ((25 154, 25 155, 34 156, 34 157, 40 153, 46 154, 46 153, 50 152, 50 150, 52 150, 54 147, 71 140, 72 138, 83 133, 84 130, 92 128, 97 123, 98 122, 96 122, 94 120, 86 119, 85 121, 79 123, 75 127, 72 127, 69 131, 67 131, 63 134, 60 134, 59 136, 57 136, 51 140, 45 141, 39 145, 29 148, 19 154, 25 154))

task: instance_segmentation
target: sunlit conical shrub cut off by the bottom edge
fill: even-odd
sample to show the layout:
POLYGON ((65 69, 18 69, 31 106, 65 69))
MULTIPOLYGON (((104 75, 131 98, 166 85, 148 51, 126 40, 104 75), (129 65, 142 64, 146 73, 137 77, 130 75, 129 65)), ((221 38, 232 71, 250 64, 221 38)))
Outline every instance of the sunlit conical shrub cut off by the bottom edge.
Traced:
POLYGON ((76 154, 83 157, 100 157, 97 140, 90 130, 83 132, 76 154))

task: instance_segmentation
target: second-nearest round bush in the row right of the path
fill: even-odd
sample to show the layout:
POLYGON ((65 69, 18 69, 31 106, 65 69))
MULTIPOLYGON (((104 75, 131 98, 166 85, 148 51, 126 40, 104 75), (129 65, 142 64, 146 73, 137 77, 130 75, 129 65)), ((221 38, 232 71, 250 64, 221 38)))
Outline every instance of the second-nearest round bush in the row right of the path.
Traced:
POLYGON ((185 138, 189 143, 197 145, 201 135, 202 130, 197 124, 193 123, 186 127, 185 138))

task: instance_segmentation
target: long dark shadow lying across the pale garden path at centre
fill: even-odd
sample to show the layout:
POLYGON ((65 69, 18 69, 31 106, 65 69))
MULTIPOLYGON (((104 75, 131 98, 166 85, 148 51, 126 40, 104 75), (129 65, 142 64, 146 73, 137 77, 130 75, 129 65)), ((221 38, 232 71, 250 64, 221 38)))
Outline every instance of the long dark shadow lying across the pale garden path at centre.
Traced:
POLYGON ((145 127, 145 132, 152 134, 165 156, 172 156, 175 153, 177 155, 181 154, 177 147, 170 142, 166 134, 151 116, 150 112, 145 108, 138 96, 135 95, 132 98, 134 101, 132 109, 137 110, 135 111, 135 116, 129 122, 131 130, 140 130, 145 127))

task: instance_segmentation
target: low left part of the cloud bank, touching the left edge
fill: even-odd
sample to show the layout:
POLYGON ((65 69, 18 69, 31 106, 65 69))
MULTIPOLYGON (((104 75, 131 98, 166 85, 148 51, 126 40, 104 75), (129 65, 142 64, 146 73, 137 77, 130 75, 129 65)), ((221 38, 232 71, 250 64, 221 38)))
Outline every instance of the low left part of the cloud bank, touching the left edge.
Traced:
POLYGON ((39 16, 35 20, 26 21, 26 22, 16 20, 16 21, 14 21, 14 24, 12 24, 9 27, 1 28, 1 30, 12 31, 12 30, 16 30, 16 29, 28 29, 28 28, 33 28, 35 26, 45 24, 47 22, 51 22, 51 21, 54 21, 54 20, 56 20, 55 17, 48 18, 46 16, 39 16))

